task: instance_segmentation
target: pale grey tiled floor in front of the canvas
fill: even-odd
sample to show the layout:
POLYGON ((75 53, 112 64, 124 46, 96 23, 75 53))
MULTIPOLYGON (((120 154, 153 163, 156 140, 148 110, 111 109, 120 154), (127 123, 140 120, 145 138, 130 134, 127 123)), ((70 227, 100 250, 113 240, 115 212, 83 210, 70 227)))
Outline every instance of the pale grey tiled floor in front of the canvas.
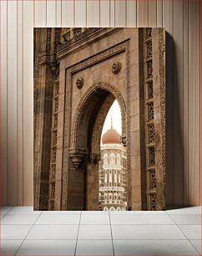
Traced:
POLYGON ((200 214, 200 207, 165 212, 2 207, 0 255, 199 255, 200 214))

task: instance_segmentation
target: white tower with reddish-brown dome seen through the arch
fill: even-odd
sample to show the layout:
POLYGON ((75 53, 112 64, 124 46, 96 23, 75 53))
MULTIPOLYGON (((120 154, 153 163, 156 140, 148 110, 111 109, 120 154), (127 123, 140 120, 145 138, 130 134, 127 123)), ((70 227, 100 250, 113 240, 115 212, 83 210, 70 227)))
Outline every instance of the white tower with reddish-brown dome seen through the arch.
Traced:
POLYGON ((126 149, 119 132, 111 127, 104 133, 99 166, 99 203, 102 210, 124 211, 126 198, 126 149))

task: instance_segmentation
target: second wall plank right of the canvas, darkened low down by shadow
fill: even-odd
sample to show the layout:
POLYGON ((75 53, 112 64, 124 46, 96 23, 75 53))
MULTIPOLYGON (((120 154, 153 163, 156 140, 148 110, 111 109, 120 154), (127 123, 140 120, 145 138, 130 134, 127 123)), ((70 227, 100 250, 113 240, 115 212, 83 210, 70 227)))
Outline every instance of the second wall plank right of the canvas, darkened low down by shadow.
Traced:
POLYGON ((174 205, 183 206, 183 2, 174 1, 174 205))

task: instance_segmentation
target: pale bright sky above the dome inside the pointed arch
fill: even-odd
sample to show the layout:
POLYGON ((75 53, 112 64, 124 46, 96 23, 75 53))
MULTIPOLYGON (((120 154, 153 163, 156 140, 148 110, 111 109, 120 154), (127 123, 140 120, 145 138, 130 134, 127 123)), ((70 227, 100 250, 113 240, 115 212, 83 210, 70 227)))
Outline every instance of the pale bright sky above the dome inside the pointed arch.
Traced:
POLYGON ((103 136, 104 132, 106 132, 110 129, 111 116, 113 118, 114 130, 118 131, 119 134, 121 135, 121 111, 120 111, 119 103, 117 100, 114 100, 114 103, 111 106, 111 108, 108 112, 108 115, 104 121, 104 128, 102 131, 102 136, 103 136))

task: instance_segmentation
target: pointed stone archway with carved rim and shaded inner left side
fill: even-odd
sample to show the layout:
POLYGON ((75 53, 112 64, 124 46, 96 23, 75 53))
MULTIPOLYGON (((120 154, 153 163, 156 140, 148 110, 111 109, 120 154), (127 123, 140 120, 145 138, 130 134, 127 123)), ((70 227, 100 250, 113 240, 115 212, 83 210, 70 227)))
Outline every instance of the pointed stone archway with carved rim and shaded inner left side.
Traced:
MULTIPOLYGON (((122 115, 122 133, 126 133, 126 106, 113 85, 98 82, 89 87, 73 116, 69 157, 83 176, 83 208, 98 210, 98 166, 100 139, 104 120, 114 100, 118 100, 122 115)), ((125 143, 125 136, 123 136, 125 143)), ((70 163, 71 165, 71 163, 70 163)), ((77 172, 77 171, 76 171, 77 172)))

